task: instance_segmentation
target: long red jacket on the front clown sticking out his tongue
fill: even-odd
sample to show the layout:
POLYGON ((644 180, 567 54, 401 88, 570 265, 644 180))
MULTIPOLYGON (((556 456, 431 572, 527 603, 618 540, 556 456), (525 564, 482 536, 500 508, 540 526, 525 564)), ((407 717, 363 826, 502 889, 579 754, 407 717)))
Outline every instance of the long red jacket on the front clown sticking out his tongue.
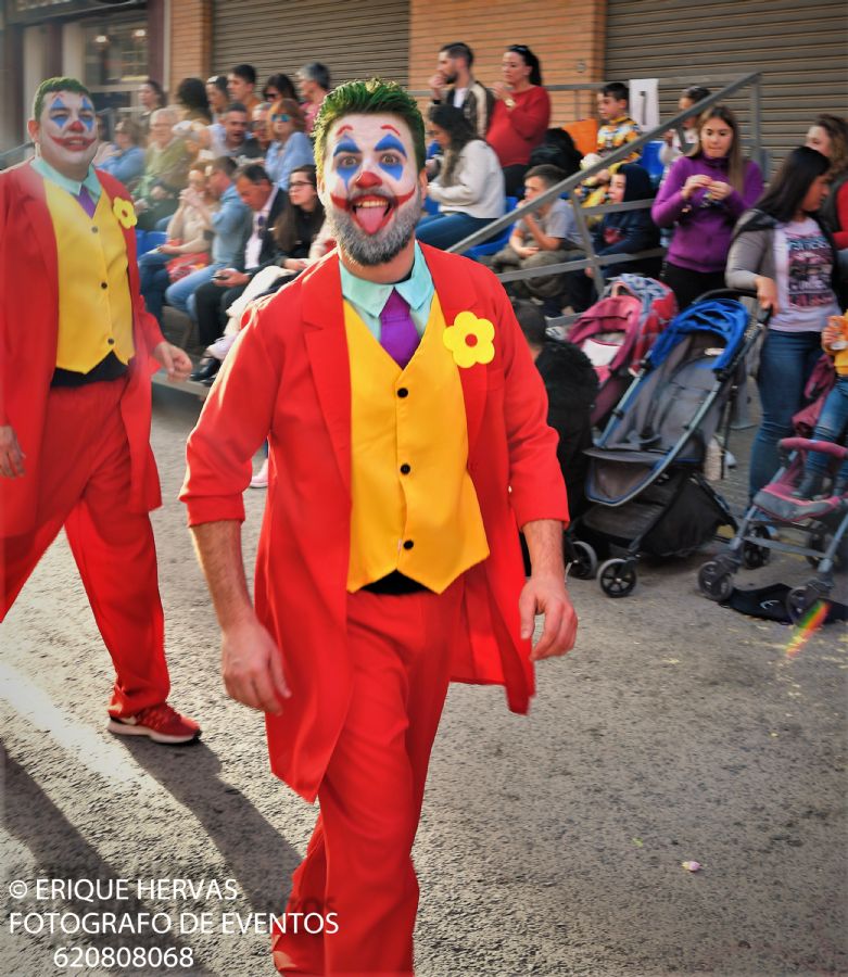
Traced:
MULTIPOLYGON (((495 327, 492 363, 459 371, 468 469, 491 555, 465 574, 452 677, 503 684, 509 707, 526 712, 533 670, 530 643, 519 636, 517 523, 568 519, 557 435, 546 426, 544 386, 501 284, 474 262, 422 250, 445 321, 471 310, 495 327)), ((271 480, 254 599, 292 690, 282 715, 267 716, 268 747, 275 773, 313 800, 351 688, 351 382, 336 252, 254 312, 225 360, 189 437, 180 497, 191 525, 244 518, 251 460, 268 432, 271 480)))

